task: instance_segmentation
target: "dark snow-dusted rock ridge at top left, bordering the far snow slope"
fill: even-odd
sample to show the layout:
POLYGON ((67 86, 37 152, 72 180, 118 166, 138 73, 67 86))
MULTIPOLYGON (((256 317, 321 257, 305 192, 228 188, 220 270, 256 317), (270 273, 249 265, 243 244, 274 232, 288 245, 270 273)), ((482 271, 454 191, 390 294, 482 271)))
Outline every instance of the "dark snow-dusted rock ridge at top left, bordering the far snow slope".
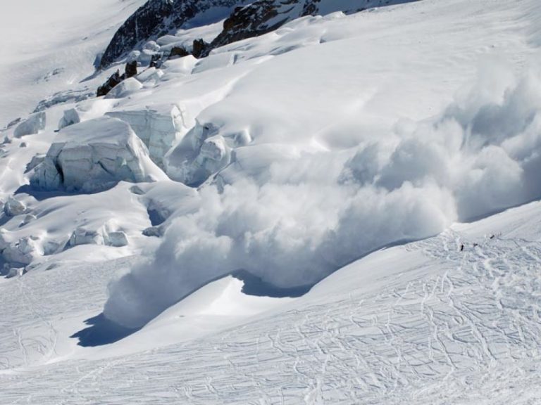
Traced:
POLYGON ((118 29, 101 57, 99 68, 108 67, 142 41, 185 26, 211 8, 216 8, 216 11, 212 13, 213 18, 206 18, 205 23, 215 23, 227 17, 232 8, 245 3, 245 0, 149 0, 118 29))

